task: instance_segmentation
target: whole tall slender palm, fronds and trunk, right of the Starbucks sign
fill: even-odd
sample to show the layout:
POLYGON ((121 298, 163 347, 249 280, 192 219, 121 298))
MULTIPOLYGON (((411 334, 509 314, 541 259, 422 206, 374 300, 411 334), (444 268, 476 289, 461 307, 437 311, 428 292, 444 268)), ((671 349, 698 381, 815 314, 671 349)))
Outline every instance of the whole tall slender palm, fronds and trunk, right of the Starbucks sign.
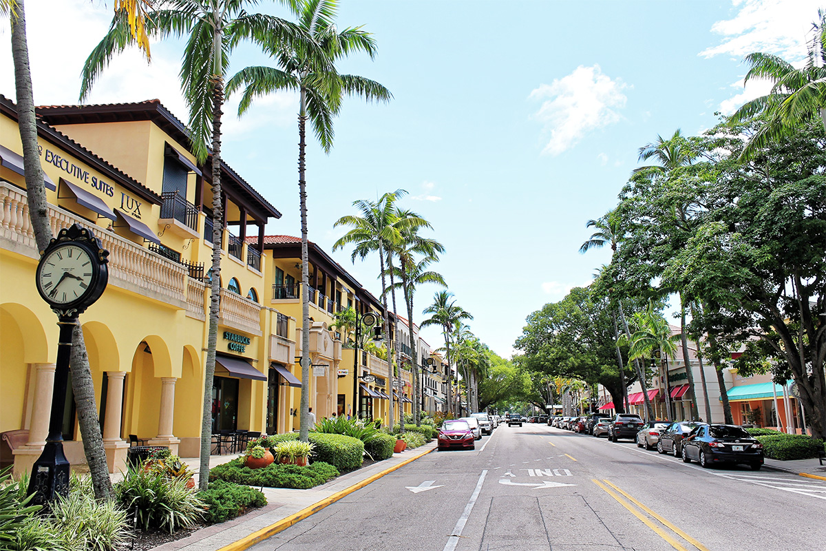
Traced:
POLYGON ((310 289, 307 260, 307 205, 305 179, 306 121, 310 119, 321 148, 330 154, 333 147, 333 118, 339 114, 344 95, 362 96, 369 101, 387 102, 392 94, 381 84, 352 74, 338 74, 335 61, 355 51, 376 55, 373 36, 361 27, 338 32, 335 16, 337 0, 303 0, 292 6, 297 25, 309 36, 309 44, 285 48, 278 36, 259 35, 265 53, 278 61, 278 68, 247 67, 230 79, 231 93, 244 88, 239 115, 247 111, 254 97, 278 90, 299 93, 298 107, 298 196, 301 209, 301 429, 306 441, 310 425, 310 289))

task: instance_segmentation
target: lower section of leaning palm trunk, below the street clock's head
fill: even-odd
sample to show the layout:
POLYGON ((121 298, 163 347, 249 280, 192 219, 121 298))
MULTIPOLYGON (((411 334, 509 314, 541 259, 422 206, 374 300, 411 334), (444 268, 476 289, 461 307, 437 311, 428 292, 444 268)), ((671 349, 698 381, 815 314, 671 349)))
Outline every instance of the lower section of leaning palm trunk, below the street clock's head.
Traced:
POLYGON ((72 390, 78 411, 80 435, 83 438, 83 453, 86 454, 89 474, 92 476, 95 498, 98 501, 109 501, 114 498, 112 480, 109 478, 106 449, 103 448, 100 419, 97 417, 92 371, 89 369, 83 329, 79 323, 72 331, 72 356, 69 363, 73 367, 72 390))

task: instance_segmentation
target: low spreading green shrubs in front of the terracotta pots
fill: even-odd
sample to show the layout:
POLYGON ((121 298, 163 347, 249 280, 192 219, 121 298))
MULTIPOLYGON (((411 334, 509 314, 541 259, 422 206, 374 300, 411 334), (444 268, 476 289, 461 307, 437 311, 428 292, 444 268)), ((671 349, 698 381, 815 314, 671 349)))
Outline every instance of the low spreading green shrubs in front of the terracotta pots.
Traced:
MULTIPOLYGON (((360 463, 359 463, 360 464, 360 463)), ((304 489, 316 487, 339 476, 339 470, 329 463, 316 461, 306 467, 271 463, 263 468, 244 466, 243 458, 236 458, 210 469, 210 483, 223 480, 247 486, 304 489)))

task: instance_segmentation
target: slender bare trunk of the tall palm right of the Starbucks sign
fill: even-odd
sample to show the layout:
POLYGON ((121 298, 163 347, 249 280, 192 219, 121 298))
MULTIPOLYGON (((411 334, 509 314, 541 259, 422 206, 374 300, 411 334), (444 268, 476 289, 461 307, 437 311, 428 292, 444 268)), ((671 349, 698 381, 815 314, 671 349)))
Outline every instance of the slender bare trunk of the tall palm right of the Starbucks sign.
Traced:
MULTIPOLYGON (((306 89, 301 87, 298 113, 298 197, 301 205, 301 420, 298 439, 310 440, 310 264, 307 253, 306 89)), ((358 376, 354 374, 354 376, 358 376)), ((355 397, 354 397, 355 399, 355 397)))

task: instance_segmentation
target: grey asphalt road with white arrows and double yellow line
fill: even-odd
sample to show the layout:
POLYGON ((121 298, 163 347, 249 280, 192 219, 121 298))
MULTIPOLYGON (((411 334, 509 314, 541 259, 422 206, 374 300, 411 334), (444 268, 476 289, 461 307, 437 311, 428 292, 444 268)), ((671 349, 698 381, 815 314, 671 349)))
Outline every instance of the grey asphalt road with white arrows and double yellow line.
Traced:
POLYGON ((500 425, 434 451, 255 551, 824 549, 826 481, 700 468, 630 441, 500 425))

